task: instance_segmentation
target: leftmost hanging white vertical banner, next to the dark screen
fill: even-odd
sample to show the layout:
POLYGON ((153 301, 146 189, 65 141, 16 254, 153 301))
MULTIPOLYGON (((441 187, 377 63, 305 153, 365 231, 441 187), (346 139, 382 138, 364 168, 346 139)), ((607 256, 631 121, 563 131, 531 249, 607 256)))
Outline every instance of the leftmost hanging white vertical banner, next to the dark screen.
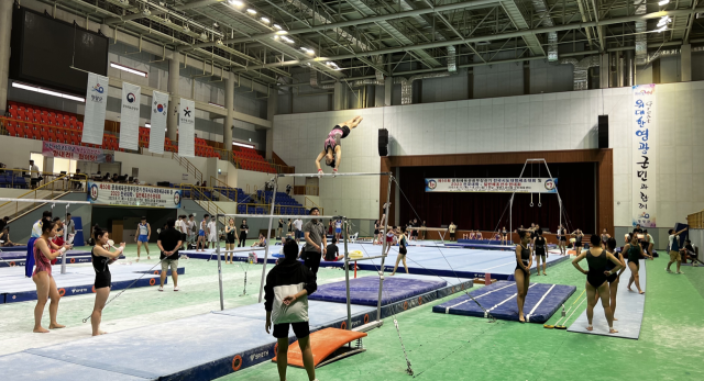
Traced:
POLYGON ((95 72, 88 74, 81 143, 102 145, 102 133, 106 130, 106 107, 108 105, 108 77, 95 72))

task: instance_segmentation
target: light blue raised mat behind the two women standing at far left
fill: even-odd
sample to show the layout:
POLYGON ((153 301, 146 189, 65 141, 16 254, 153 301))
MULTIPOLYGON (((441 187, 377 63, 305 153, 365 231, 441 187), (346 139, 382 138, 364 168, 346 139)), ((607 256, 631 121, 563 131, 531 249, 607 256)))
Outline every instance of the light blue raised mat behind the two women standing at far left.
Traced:
MULTIPOLYGON (((88 257, 90 261, 90 257, 88 257)), ((122 290, 134 280, 150 271, 153 265, 119 265, 120 261, 110 266, 112 273, 112 290, 122 290)), ((178 274, 185 273, 185 268, 178 268, 178 274)), ((151 270, 152 273, 144 276, 132 288, 157 285, 160 283, 161 266, 151 270)), ((170 270, 168 270, 170 276, 170 270)), ((58 293, 62 296, 80 295, 92 293, 92 284, 96 272, 92 267, 70 267, 66 273, 61 273, 61 265, 52 267, 52 276, 56 280, 58 293)), ((168 281, 168 278, 167 278, 168 281)), ((0 269, 0 304, 18 303, 36 300, 36 285, 32 279, 24 276, 24 267, 12 267, 0 269)))

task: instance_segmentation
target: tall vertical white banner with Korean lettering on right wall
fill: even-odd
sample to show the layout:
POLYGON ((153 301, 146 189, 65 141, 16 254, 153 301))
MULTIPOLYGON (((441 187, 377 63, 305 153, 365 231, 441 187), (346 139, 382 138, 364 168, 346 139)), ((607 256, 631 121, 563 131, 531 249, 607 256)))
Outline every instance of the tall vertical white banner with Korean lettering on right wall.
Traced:
POLYGON ((632 93, 632 224, 656 227, 656 86, 634 86, 632 93))

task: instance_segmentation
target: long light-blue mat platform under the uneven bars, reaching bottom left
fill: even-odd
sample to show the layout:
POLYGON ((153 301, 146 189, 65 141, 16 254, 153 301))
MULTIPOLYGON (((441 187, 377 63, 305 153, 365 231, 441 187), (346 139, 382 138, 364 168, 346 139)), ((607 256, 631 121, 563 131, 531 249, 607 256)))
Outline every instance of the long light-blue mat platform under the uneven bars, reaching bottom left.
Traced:
MULTIPOLYGON (((370 278, 378 282, 378 278, 370 278)), ((398 279, 432 280, 418 276, 398 279)), ((415 292, 394 305, 411 309, 471 285, 469 279, 448 280, 442 288, 415 292)), ((394 291, 393 282, 389 289, 394 291)), ((382 318, 396 313, 389 306, 382 309, 382 318)), ((353 304, 351 309, 352 327, 376 318, 375 307, 353 304)), ((311 332, 346 328, 345 304, 310 301, 309 311, 311 332)), ((211 380, 274 357, 276 338, 264 330, 265 318, 264 305, 253 304, 2 356, 0 368, 12 374, 12 380, 211 380), (178 335, 167 335, 167 346, 183 350, 167 350, 165 360, 164 335, 175 332, 178 335)))

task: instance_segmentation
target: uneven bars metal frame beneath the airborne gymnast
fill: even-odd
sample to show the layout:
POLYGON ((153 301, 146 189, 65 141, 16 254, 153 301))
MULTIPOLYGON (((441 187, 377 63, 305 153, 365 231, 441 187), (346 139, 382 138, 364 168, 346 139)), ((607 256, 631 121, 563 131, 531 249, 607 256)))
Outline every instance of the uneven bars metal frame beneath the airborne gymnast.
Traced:
MULTIPOLYGON (((266 231, 266 239, 268 240, 271 235, 272 235, 272 223, 274 221, 275 217, 277 218, 308 218, 308 220, 330 220, 330 218, 342 218, 343 220, 343 224, 344 224, 344 282, 345 282, 345 289, 346 289, 346 304, 348 304, 348 327, 350 327, 350 329, 352 329, 352 305, 350 303, 350 262, 356 262, 358 260, 369 260, 369 259, 377 259, 381 258, 382 259, 382 265, 380 268, 380 280, 378 280, 378 301, 376 303, 376 322, 372 322, 369 323, 366 325, 364 325, 365 328, 372 328, 372 327, 376 327, 376 326, 381 326, 382 323, 382 290, 384 288, 384 259, 386 259, 386 255, 384 255, 384 253, 386 251, 386 239, 384 239, 383 246, 382 246, 382 255, 381 256, 375 256, 375 257, 366 257, 366 258, 350 258, 350 253, 348 250, 348 242, 349 242, 349 235, 348 235, 348 226, 349 226, 349 221, 348 217, 343 216, 343 215, 287 215, 287 214, 274 214, 274 209, 276 205, 276 190, 278 189, 278 178, 279 177, 312 177, 312 176, 318 176, 318 177, 337 177, 337 176, 388 176, 389 177, 389 181, 388 181, 388 189, 386 191, 386 200, 388 201, 391 199, 392 195, 392 179, 393 179, 393 175, 391 172, 380 172, 380 173, 366 173, 366 172, 360 172, 360 173, 337 173, 337 175, 330 175, 330 173, 322 173, 322 175, 318 175, 318 173, 279 173, 277 176, 274 177, 274 190, 272 193, 272 208, 270 210, 270 214, 268 215, 263 215, 263 214, 216 214, 216 221, 220 221, 220 217, 242 217, 242 218, 267 218, 268 217, 268 227, 266 231)), ((389 206, 389 202, 386 202, 386 209, 384 211, 384 213, 386 215, 388 215, 388 206, 389 206)), ((260 296, 258 296, 258 303, 262 303, 262 299, 264 298, 264 281, 266 280, 266 265, 267 265, 267 260, 268 260, 268 253, 270 253, 270 247, 271 247, 271 242, 267 242, 266 248, 264 250, 264 266, 262 266, 262 281, 260 284, 260 296)), ((224 310, 224 296, 223 296, 223 290, 222 290, 222 262, 221 262, 221 253, 227 253, 227 251, 221 251, 220 250, 220 240, 218 240, 217 246, 216 246, 216 255, 218 256, 218 284, 220 287, 220 311, 224 310)))

